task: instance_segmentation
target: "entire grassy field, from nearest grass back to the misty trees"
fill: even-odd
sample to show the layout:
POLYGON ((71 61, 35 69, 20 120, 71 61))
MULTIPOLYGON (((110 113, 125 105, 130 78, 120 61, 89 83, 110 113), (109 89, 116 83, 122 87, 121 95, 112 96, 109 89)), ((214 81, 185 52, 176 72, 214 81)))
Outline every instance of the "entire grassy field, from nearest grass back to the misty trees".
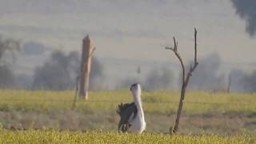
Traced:
POLYGON ((180 133, 171 136, 178 92, 142 93, 143 134, 116 129, 115 110, 130 91, 90 91, 71 110, 73 99, 72 90, 0 90, 0 143, 255 143, 256 94, 188 91, 180 133))

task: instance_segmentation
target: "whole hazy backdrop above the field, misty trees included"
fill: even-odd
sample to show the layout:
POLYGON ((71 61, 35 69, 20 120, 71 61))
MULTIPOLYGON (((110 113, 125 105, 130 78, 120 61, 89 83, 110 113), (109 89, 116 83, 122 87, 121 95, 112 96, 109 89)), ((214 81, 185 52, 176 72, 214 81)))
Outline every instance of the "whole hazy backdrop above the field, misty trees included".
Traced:
POLYGON ((180 66, 164 47, 175 35, 190 63, 195 26, 199 66, 190 89, 226 89, 231 74, 231 90, 256 91, 255 7, 254 0, 0 0, 0 87, 74 89, 89 34, 97 47, 92 89, 134 82, 178 89, 180 66))

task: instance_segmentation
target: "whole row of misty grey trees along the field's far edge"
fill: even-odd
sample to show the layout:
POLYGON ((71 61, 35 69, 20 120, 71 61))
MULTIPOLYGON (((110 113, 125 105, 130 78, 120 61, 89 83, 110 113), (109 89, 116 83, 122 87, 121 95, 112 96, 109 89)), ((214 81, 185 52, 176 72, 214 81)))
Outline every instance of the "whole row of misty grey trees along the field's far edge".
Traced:
MULTIPOLYGON (((0 36, 0 89, 28 89, 28 90, 71 90, 75 88, 76 77, 79 74, 80 58, 78 52, 68 54, 56 50, 51 52, 50 57, 42 66, 34 70, 34 75, 29 78, 26 74, 15 75, 15 59, 22 49, 20 42, 12 38, 0 36), (21 82, 22 81, 22 82, 21 82), (21 84, 22 83, 22 84, 21 84)), ((222 60, 218 54, 210 54, 200 60, 198 69, 194 71, 190 79, 188 89, 192 90, 221 90, 226 88, 228 74, 219 74, 222 60)), ((90 89, 102 90, 105 86, 104 68, 97 58, 92 58, 90 74, 90 89)), ((144 74, 143 67, 134 69, 138 77, 125 78, 117 82, 117 89, 127 88, 131 83, 140 82, 144 90, 174 89, 177 81, 171 67, 162 66, 144 74)), ((231 70, 232 91, 256 92, 256 70, 250 74, 242 70, 231 70)), ((124 76, 125 77, 125 76, 124 76)))

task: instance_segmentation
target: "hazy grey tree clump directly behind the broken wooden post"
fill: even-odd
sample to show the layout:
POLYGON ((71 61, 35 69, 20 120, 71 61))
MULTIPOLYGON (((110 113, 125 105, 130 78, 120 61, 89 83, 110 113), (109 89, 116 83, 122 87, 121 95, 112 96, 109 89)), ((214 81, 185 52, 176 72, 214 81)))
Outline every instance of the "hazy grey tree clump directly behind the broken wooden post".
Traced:
MULTIPOLYGON (((50 59, 43 66, 34 71, 33 90, 71 90, 75 87, 76 78, 79 75, 80 55, 77 52, 64 54, 62 51, 54 51, 50 59)), ((103 78, 103 66, 98 59, 92 58, 90 74, 90 88, 101 88, 100 79, 103 78)))

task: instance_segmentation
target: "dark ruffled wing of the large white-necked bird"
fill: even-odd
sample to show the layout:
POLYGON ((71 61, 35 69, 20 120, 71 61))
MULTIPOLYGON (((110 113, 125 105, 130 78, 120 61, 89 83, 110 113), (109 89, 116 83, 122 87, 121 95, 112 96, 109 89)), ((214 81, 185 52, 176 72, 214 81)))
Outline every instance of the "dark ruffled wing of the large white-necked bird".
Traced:
POLYGON ((130 123, 128 122, 130 117, 133 115, 133 119, 138 114, 138 109, 134 102, 118 105, 117 113, 120 116, 120 121, 118 124, 118 130, 122 130, 122 132, 127 131, 130 128, 130 123))

